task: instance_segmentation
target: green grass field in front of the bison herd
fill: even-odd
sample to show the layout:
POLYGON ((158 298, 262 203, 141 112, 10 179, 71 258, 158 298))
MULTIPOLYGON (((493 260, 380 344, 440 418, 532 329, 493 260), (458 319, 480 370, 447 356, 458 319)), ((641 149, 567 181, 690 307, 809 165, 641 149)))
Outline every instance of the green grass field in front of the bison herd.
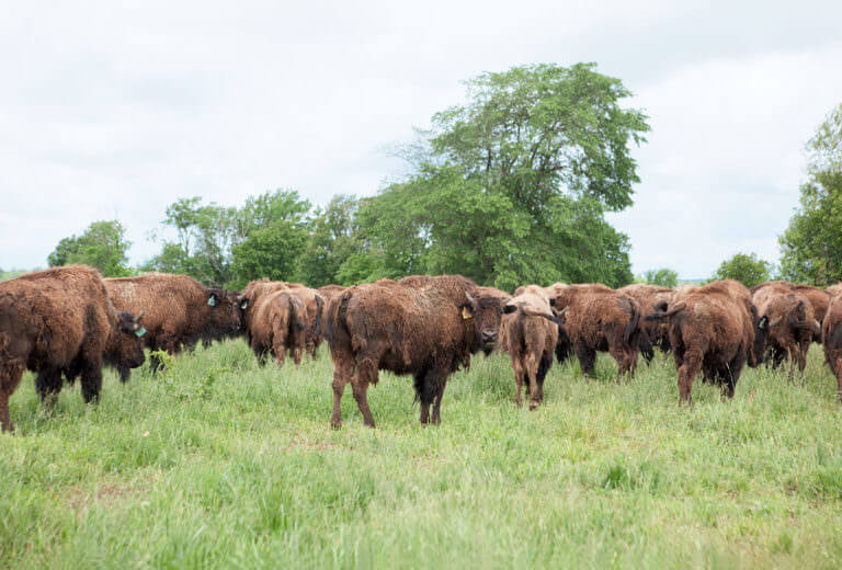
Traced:
POLYGON ((2 568, 839 568, 842 410, 810 353, 806 385, 748 371, 731 402, 678 407, 660 355, 617 386, 555 366, 536 412, 508 356, 452 377, 442 425, 411 379, 346 390, 332 365, 260 368, 228 342, 136 371, 45 418, 27 375, 0 435, 2 568))

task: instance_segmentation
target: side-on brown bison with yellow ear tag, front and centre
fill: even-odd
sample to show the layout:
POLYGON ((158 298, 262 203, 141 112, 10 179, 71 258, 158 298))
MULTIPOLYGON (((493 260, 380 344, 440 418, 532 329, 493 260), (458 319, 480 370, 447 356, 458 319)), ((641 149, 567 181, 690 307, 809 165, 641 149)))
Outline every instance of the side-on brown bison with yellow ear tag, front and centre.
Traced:
POLYGON ((421 423, 441 421, 447 378, 470 355, 492 350, 501 316, 500 300, 482 296, 462 276, 413 280, 413 286, 367 284, 350 287, 328 305, 327 339, 333 360, 333 414, 351 383, 365 425, 374 428, 367 390, 378 371, 411 374, 421 401, 421 423), (422 284, 421 282, 424 282, 422 284))

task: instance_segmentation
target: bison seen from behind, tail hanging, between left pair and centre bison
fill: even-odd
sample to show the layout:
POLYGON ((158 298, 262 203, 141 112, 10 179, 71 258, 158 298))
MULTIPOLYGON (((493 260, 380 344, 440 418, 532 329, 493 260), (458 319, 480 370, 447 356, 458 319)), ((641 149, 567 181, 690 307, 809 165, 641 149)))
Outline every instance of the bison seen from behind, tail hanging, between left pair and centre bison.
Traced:
POLYGON ((249 344, 261 364, 271 354, 278 366, 287 352, 293 362, 301 364, 306 347, 307 308, 293 290, 275 290, 254 303, 249 320, 249 344))

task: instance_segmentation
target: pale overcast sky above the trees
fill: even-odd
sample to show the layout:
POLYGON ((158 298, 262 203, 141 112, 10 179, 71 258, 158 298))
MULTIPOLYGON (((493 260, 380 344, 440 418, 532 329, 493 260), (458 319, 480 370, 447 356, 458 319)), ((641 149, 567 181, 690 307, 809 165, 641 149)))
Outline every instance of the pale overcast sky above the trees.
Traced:
POLYGON ((179 197, 371 195, 464 80, 594 61, 649 116, 635 273, 776 262, 804 145, 842 102, 842 2, 3 2, 0 267, 120 219, 132 263, 179 197))

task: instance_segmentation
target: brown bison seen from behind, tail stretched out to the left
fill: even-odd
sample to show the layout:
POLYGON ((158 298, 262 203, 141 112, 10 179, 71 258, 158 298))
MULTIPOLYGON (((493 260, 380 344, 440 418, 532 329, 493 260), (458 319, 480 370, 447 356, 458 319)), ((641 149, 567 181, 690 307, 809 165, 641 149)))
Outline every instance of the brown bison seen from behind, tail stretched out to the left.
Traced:
POLYGON ((758 316, 749 289, 731 280, 683 287, 665 310, 645 320, 669 323, 679 401, 687 403, 699 372, 732 398, 747 361, 750 366, 758 365, 769 327, 769 319, 758 316))

